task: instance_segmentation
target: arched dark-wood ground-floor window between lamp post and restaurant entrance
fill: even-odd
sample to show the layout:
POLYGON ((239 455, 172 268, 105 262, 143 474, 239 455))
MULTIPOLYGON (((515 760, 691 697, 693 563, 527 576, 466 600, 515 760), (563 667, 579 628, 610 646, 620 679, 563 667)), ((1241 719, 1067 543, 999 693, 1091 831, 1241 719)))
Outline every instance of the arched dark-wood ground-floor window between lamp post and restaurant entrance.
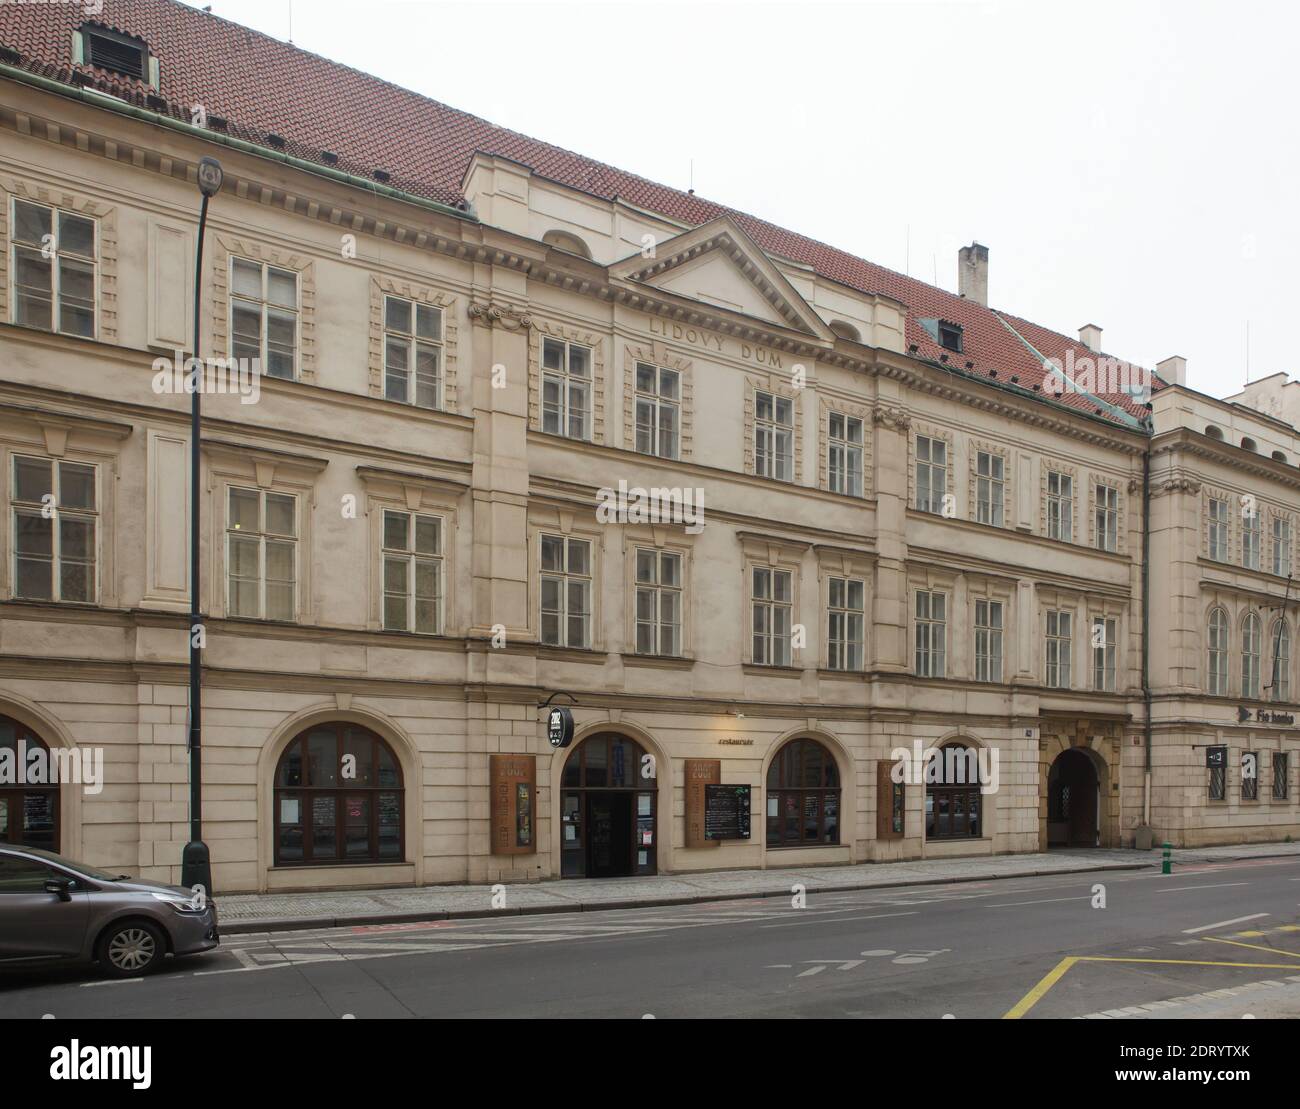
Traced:
POLYGON ((295 736, 276 767, 276 863, 402 862, 402 767, 374 732, 343 722, 295 736))

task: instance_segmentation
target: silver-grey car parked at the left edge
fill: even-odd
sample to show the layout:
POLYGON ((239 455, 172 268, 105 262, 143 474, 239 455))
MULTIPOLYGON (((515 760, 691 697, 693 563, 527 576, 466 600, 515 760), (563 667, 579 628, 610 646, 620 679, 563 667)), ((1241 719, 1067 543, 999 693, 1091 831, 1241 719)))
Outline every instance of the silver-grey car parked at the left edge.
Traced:
POLYGON ((0 967, 98 962, 112 978, 220 943, 217 906, 181 885, 0 844, 0 967))

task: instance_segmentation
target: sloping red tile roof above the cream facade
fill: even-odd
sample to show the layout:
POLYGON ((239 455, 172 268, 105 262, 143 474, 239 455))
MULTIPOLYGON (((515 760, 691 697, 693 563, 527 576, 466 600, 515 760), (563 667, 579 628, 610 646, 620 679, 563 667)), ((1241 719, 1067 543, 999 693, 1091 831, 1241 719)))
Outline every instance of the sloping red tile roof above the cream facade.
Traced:
MULTIPOLYGON (((77 3, 0 4, 0 46, 21 55, 18 65, 60 82, 74 74, 95 87, 188 120, 192 105, 228 121, 230 134, 261 146, 282 137, 283 150, 324 164, 322 151, 338 156, 338 168, 361 177, 384 169, 389 183, 445 204, 463 202, 460 182, 476 151, 497 153, 562 185, 662 213, 692 226, 731 216, 770 254, 811 265, 819 274, 862 293, 893 296, 907 306, 906 342, 916 355, 1000 382, 1041 385, 1043 358, 1091 352, 1082 343, 998 313, 944 289, 855 257, 796 231, 723 204, 658 185, 550 143, 471 116, 370 74, 308 53, 289 43, 172 0, 105 0, 91 22, 148 43, 160 60, 161 87, 150 101, 139 82, 90 66, 73 65, 73 31, 87 22, 77 3), (157 98, 161 98, 159 100, 157 98), (959 324, 963 352, 942 350, 918 322, 944 319, 959 324), (1041 355, 1036 356, 1030 348, 1041 355), (967 369, 967 363, 971 367, 967 369)), ((1156 381, 1158 389, 1162 382, 1156 381)), ((1067 393, 1071 408, 1115 419, 1108 404, 1067 393)), ((1131 423, 1144 410, 1127 395, 1106 395, 1131 423)))

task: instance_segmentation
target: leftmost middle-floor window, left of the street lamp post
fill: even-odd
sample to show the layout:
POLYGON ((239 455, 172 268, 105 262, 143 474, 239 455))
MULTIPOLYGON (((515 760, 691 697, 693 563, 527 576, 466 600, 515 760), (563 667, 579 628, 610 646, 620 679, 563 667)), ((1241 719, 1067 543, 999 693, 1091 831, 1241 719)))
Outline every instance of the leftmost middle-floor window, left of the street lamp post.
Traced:
POLYGON ((14 455, 14 597, 95 602, 99 594, 96 478, 94 465, 14 455))

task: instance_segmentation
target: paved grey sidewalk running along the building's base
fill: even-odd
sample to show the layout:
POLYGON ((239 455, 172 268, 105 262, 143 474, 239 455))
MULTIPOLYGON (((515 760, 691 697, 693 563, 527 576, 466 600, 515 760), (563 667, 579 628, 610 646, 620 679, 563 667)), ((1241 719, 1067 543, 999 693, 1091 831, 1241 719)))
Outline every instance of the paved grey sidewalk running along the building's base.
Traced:
MULTIPOLYGON (((1245 844, 1174 852, 1174 867, 1187 863, 1300 855, 1300 844, 1245 844)), ((862 863, 790 870, 719 870, 653 878, 578 878, 504 885, 504 907, 493 909, 491 885, 424 885, 348 889, 329 893, 231 893, 217 896, 225 935, 395 924, 523 913, 582 913, 653 905, 689 905, 751 897, 788 897, 802 884, 810 894, 884 889, 949 881, 987 881, 1043 874, 1086 874, 1158 867, 1160 849, 1096 849, 1049 854, 984 855, 965 859, 862 863)))

